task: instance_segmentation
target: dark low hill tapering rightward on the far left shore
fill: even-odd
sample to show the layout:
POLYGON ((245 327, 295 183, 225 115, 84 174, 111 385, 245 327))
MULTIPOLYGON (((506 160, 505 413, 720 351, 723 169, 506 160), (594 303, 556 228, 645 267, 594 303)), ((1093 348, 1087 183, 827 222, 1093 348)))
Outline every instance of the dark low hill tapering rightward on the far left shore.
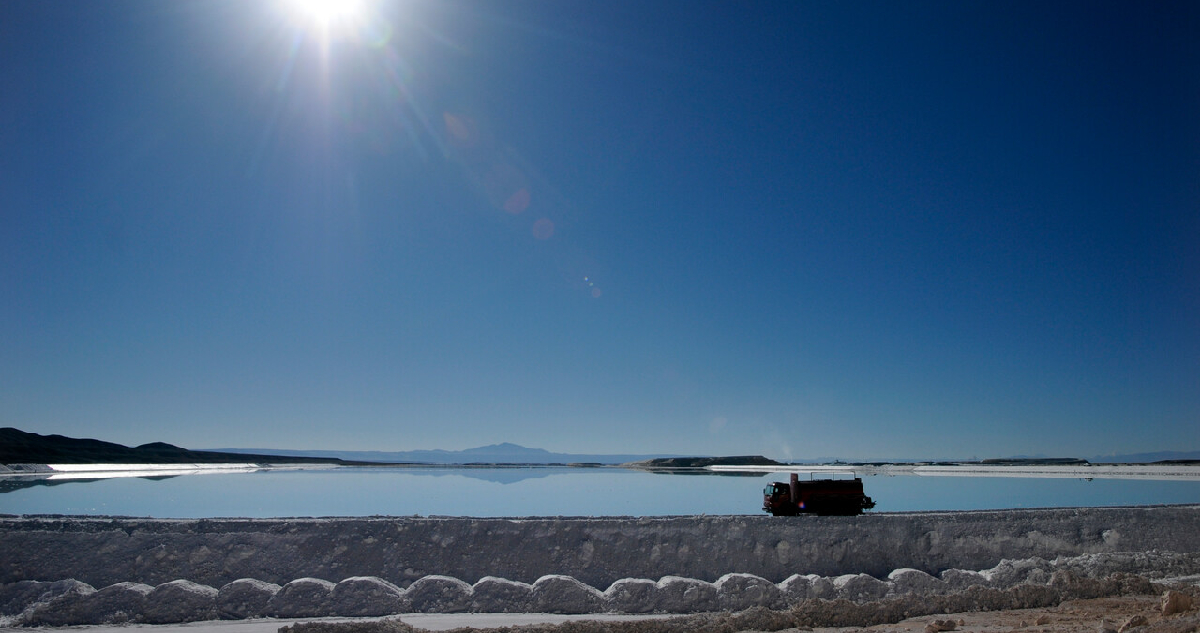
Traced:
MULTIPOLYGON (((0 464, 229 464, 277 463, 278 456, 190 451, 170 444, 151 442, 131 448, 101 440, 38 435, 11 427, 0 428, 0 464)), ((288 457, 288 463, 341 464, 341 459, 288 457)))

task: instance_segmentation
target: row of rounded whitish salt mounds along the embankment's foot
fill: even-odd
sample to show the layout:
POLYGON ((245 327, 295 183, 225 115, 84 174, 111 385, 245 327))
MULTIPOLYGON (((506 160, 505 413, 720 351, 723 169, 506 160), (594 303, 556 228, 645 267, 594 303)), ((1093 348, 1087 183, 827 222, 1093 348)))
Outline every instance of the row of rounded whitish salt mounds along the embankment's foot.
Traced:
POLYGON ((1146 595, 1160 591, 1151 584, 1151 575, 1198 572, 1198 554, 1154 551, 1052 561, 1038 557, 1004 560, 989 569, 947 569, 941 579, 911 568, 895 569, 886 580, 868 574, 836 578, 793 574, 779 584, 746 573, 728 573, 715 583, 674 575, 658 581, 625 578, 602 592, 559 574, 544 575, 532 585, 496 577, 484 577, 475 585, 468 585, 457 578, 426 575, 407 590, 376 577, 352 577, 336 585, 318 578, 300 578, 282 587, 244 578, 220 590, 188 580, 173 580, 152 589, 138 583, 116 583, 100 591, 78 580, 22 581, 0 586, 0 605, 6 611, 0 617, 5 625, 74 626, 263 615, 688 614, 748 609, 775 613, 790 608, 811 614, 814 622, 848 622, 821 626, 858 626, 853 622, 877 620, 888 613, 925 613, 920 609, 934 609, 929 613, 1021 609, 1054 605, 1063 599, 1146 595))

